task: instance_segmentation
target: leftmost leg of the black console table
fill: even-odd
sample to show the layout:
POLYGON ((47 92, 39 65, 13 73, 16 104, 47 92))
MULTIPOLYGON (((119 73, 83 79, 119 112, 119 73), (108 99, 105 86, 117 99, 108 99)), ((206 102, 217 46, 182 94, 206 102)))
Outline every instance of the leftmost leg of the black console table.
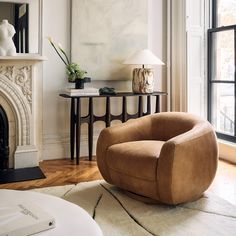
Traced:
POLYGON ((71 98, 70 108, 70 158, 74 160, 75 148, 75 99, 71 98))

